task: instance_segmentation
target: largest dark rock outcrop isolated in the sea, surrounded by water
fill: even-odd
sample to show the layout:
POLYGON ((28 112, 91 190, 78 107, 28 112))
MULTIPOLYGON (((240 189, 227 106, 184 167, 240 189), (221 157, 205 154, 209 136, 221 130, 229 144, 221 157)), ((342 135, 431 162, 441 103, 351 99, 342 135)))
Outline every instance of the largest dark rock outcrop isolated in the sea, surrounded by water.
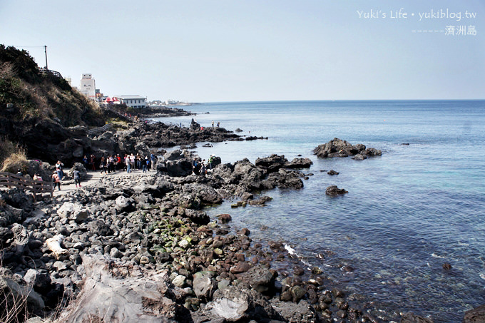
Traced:
POLYGON ((319 145, 313 150, 313 153, 319 158, 354 156, 353 159, 355 160, 363 160, 367 157, 382 155, 381 150, 366 148, 362 143, 352 145, 346 140, 339 138, 333 138, 328 143, 319 145))

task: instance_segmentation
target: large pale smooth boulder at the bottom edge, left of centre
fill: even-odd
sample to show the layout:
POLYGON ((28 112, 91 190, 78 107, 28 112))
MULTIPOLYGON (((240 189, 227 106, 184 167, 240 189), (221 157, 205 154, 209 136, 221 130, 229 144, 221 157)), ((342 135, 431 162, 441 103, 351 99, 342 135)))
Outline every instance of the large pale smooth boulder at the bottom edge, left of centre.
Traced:
POLYGON ((85 256, 86 280, 76 302, 63 311, 60 322, 176 322, 176 304, 169 297, 166 273, 149 275, 108 257, 85 256))

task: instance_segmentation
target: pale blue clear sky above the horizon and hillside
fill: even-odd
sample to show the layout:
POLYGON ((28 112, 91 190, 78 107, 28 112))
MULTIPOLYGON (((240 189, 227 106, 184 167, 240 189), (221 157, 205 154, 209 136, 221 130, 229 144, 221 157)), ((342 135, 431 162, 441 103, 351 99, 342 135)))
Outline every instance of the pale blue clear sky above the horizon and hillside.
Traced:
POLYGON ((0 43, 148 101, 477 99, 484 17, 483 0, 1 0, 0 43))

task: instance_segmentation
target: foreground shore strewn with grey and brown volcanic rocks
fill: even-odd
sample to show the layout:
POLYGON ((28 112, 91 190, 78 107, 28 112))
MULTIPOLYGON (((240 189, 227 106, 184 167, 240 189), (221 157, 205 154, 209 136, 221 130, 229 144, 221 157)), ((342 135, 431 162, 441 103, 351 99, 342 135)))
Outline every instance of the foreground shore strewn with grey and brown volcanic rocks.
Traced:
MULTIPOLYGON (((1 190, 1 294, 26 299, 44 322, 389 322, 332 287, 321 268, 305 268, 283 242, 252 242, 250 230, 228 225, 230 215, 204 212, 300 189, 310 159, 215 163, 198 176, 194 157, 174 150, 156 175, 120 173, 52 201, 1 190), (292 272, 273 269, 276 262, 292 272)), ((403 314, 401 322, 432 320, 403 314)))

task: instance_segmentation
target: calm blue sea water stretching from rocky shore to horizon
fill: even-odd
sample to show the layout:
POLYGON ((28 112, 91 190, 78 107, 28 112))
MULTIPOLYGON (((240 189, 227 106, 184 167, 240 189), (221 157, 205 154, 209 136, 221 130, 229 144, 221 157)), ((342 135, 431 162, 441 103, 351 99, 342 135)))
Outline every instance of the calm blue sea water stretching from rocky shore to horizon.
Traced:
MULTIPOLYGON (((387 314, 414 312, 461 322, 485 304, 485 101, 292 101, 190 106, 209 127, 268 140, 197 149, 223 163, 272 153, 302 155, 313 165, 302 190, 266 192, 265 207, 213 207, 253 239, 282 240, 303 263, 322 267, 347 294, 387 314), (209 112, 209 113, 206 113, 209 112), (318 159, 332 138, 382 150, 382 157, 318 159), (409 143, 409 145, 402 145, 409 143), (337 176, 320 170, 336 170, 337 176), (329 198, 325 189, 349 191, 329 198), (316 257, 324 254, 325 260, 316 257), (442 265, 448 262, 451 270, 442 265), (342 266, 351 265, 346 273, 342 266)), ((188 125, 192 117, 163 118, 188 125)))

